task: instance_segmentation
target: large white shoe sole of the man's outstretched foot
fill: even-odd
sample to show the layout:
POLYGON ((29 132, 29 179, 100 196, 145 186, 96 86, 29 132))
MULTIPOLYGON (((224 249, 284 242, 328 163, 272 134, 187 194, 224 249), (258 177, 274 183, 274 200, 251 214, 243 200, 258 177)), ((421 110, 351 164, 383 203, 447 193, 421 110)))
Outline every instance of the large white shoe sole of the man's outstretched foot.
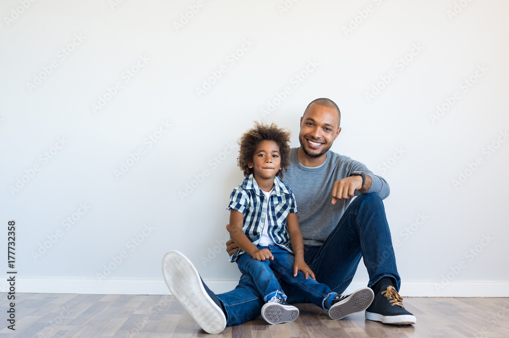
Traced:
POLYGON ((208 333, 226 327, 226 316, 209 297, 194 265, 179 251, 169 251, 162 259, 162 274, 169 291, 192 318, 208 333))

